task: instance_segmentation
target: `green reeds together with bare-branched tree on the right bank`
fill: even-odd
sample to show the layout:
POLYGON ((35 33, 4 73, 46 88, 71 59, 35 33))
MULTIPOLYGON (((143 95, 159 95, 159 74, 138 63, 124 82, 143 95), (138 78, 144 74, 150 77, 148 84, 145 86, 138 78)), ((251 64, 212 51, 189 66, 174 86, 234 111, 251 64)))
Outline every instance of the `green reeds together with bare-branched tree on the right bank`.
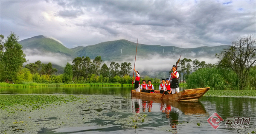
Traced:
POLYGON ((252 35, 238 38, 216 57, 217 64, 201 67, 188 76, 189 88, 256 90, 256 39, 252 35))

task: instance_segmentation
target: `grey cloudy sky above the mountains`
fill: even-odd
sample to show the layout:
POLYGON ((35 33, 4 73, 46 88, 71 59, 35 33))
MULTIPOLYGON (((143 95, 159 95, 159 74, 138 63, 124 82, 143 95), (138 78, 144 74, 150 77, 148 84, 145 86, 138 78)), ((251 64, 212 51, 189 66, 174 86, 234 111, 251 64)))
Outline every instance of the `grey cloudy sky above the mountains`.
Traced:
POLYGON ((256 0, 1 0, 0 34, 44 35, 66 47, 127 39, 148 45, 230 45, 256 37, 256 0))

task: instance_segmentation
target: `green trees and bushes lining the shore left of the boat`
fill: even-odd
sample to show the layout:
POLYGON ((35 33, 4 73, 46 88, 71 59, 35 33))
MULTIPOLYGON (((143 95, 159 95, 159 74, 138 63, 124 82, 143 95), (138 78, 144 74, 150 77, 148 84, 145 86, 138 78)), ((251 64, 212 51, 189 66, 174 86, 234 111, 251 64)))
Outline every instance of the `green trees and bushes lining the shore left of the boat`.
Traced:
POLYGON ((3 41, 4 36, 0 35, 0 81, 7 83, 93 83, 93 82, 119 82, 121 84, 131 84, 132 78, 131 63, 111 62, 110 67, 102 64, 101 56, 91 60, 89 57, 76 57, 72 65, 67 63, 64 73, 55 75, 58 71, 48 64, 36 61, 35 63, 23 64, 27 62, 23 53, 22 45, 18 42, 18 36, 12 33, 3 41))

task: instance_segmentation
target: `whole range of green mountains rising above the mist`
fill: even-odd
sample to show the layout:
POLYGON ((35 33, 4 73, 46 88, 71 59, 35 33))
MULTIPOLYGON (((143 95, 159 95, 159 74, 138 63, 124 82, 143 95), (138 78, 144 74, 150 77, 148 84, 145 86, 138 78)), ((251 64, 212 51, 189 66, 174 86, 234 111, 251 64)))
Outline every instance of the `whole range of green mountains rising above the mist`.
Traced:
MULTIPOLYGON (((24 39, 19 42, 25 49, 37 49, 41 52, 63 53, 71 58, 76 56, 89 56, 94 59, 96 56, 101 56, 102 60, 120 61, 127 58, 134 59, 136 52, 136 43, 125 39, 102 42, 96 45, 89 45, 86 47, 67 48, 55 39, 46 36, 34 36, 29 39, 24 39), (122 53, 121 53, 122 50, 122 53)), ((197 57, 215 57, 215 53, 219 53, 228 45, 221 45, 215 47, 196 47, 196 48, 180 48, 174 46, 160 46, 160 45, 145 45, 138 44, 137 56, 150 58, 150 56, 170 56, 182 55, 187 58, 197 57)))

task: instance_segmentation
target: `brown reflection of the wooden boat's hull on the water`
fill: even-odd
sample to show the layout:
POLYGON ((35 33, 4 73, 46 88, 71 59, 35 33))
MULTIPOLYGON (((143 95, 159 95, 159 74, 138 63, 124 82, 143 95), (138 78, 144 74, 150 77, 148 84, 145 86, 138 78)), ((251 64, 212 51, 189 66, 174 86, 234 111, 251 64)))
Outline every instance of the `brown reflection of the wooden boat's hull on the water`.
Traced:
POLYGON ((150 102, 153 103, 161 103, 166 105, 172 105, 177 109, 180 109, 186 115, 189 114, 208 114, 208 112, 204 109, 204 105, 200 101, 174 101, 174 100, 161 100, 156 98, 148 98, 142 96, 133 96, 133 99, 141 99, 142 102, 150 102))

